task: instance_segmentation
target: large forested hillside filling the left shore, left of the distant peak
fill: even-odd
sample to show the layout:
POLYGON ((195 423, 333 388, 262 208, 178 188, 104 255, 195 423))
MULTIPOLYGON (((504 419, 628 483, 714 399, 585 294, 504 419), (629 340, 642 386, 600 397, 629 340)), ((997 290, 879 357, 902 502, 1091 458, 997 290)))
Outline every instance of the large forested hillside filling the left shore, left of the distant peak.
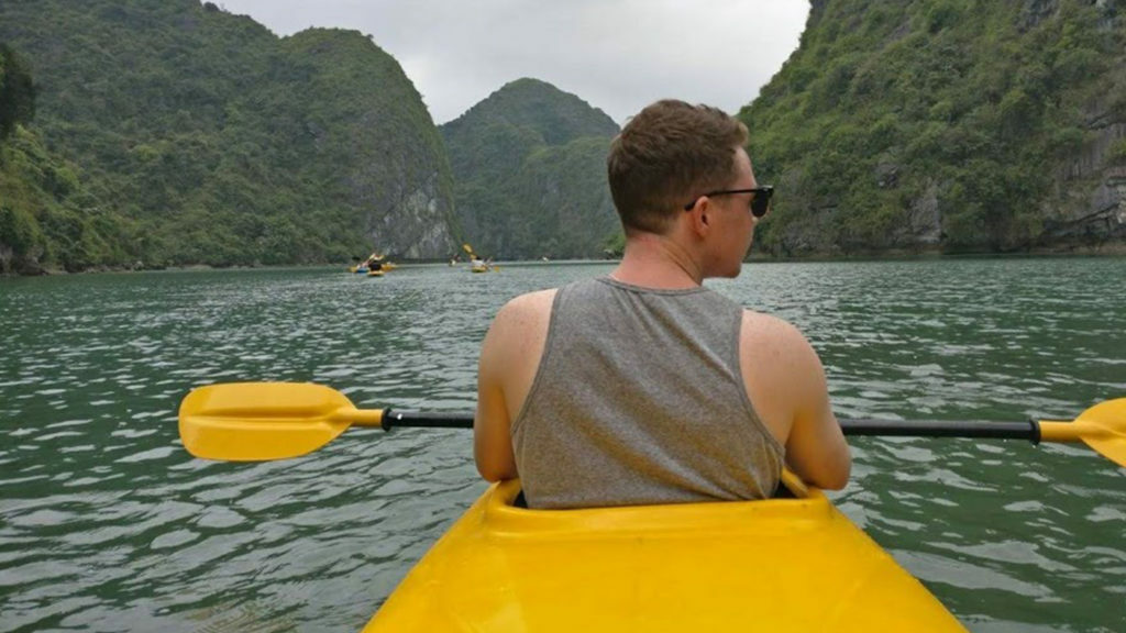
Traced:
MULTIPOLYGON (((97 200, 68 208, 131 228, 99 233, 107 252, 227 266, 455 248, 441 139, 397 62, 359 33, 278 38, 196 0, 6 0, 0 41, 38 84, 33 139, 97 200)), ((69 248, 41 264, 71 268, 69 248)), ((119 258, 73 266, 98 264, 119 258)))

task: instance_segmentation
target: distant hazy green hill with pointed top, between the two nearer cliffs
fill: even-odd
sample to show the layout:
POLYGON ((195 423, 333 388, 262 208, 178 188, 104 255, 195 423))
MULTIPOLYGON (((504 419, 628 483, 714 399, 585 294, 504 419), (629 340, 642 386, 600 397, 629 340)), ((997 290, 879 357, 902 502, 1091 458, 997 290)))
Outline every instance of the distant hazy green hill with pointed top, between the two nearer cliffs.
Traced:
POLYGON ((479 252, 599 257, 620 232, 606 184, 618 126, 574 95, 520 79, 440 130, 457 216, 479 252))

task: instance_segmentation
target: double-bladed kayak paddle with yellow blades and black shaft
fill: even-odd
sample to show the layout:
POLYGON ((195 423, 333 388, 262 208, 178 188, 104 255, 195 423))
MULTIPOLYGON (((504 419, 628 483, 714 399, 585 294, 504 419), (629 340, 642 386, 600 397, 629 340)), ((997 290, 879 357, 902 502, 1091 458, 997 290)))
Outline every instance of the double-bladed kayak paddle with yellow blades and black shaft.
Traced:
MULTIPOLYGON (((840 420, 844 435, 976 437, 1083 442, 1126 466, 1126 398, 1107 400, 1072 421, 946 422, 840 420)), ((304 455, 348 427, 473 428, 473 413, 357 409, 334 389, 312 383, 227 383, 191 391, 180 403, 180 438, 206 460, 265 461, 304 455)))

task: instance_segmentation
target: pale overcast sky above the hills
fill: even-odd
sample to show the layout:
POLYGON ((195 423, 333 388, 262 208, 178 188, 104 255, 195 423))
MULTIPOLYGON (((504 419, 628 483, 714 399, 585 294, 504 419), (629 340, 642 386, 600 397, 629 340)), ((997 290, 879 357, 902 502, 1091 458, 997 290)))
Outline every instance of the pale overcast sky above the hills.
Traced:
POLYGON ((311 26, 372 35, 435 123, 531 77, 618 124, 673 97, 731 114, 797 47, 807 0, 215 0, 278 35, 311 26))

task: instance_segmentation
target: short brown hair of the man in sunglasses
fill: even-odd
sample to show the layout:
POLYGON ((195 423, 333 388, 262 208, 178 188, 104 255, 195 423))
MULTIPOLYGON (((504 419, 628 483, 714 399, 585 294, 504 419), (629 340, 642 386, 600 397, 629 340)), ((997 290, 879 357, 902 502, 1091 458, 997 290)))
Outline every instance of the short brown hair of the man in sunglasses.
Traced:
POLYGON ((735 178, 747 126, 718 108, 664 99, 637 113, 610 144, 606 171, 622 224, 663 233, 692 195, 735 178))

